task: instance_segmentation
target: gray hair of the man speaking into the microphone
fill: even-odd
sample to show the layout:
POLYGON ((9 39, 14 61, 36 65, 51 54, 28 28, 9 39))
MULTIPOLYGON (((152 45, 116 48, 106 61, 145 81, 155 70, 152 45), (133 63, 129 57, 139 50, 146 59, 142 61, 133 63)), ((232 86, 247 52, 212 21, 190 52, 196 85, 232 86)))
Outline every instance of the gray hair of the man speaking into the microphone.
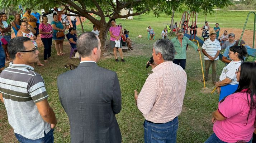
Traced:
POLYGON ((157 40, 153 44, 153 48, 155 49, 156 54, 161 53, 163 56, 163 60, 172 61, 175 57, 175 49, 174 44, 167 39, 157 40))

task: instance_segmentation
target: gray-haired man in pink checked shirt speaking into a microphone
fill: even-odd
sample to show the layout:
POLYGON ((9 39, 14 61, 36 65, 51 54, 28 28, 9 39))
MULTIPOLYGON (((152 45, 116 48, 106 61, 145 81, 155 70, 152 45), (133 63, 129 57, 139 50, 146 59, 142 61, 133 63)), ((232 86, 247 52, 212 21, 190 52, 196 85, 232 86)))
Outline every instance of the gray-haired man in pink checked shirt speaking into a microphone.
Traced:
POLYGON ((186 91, 187 75, 181 66, 174 64, 174 44, 166 39, 157 40, 152 53, 153 73, 134 99, 143 113, 145 143, 176 143, 178 115, 181 113, 186 91))

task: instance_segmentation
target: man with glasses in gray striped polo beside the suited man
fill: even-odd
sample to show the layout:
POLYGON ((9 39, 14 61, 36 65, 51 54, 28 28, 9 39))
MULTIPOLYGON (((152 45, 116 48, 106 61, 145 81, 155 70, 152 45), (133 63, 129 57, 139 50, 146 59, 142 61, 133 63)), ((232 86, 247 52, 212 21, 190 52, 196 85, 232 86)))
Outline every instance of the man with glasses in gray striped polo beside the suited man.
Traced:
POLYGON ((57 120, 48 104, 44 80, 32 66, 39 51, 31 39, 15 37, 8 44, 13 63, 0 74, 0 99, 20 143, 53 143, 57 120))

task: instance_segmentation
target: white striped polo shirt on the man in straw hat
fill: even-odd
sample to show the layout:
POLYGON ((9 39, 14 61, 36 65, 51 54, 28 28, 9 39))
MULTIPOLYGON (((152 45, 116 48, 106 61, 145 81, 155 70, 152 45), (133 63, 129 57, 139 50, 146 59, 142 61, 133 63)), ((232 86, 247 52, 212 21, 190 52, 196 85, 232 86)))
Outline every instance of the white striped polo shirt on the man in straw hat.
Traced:
MULTIPOLYGON (((202 45, 202 49, 204 49, 208 55, 214 57, 216 55, 217 51, 221 50, 221 44, 219 44, 219 41, 217 39, 212 41, 209 38, 209 39, 204 41, 204 44, 202 45)), ((210 60, 205 55, 204 55, 204 59, 205 60, 210 60)), ((214 60, 218 60, 218 59, 219 59, 219 56, 217 56, 217 58, 214 59, 214 60)))

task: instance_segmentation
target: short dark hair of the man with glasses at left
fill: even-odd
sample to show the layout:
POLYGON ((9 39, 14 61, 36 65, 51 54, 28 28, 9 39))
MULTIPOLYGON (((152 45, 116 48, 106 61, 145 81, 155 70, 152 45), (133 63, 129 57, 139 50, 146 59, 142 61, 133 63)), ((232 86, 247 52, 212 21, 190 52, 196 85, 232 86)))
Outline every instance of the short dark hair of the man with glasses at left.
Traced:
POLYGON ((26 41, 31 41, 31 39, 27 37, 14 37, 13 39, 10 40, 7 46, 7 49, 11 59, 15 59, 15 55, 19 51, 25 50, 24 42, 26 41))

